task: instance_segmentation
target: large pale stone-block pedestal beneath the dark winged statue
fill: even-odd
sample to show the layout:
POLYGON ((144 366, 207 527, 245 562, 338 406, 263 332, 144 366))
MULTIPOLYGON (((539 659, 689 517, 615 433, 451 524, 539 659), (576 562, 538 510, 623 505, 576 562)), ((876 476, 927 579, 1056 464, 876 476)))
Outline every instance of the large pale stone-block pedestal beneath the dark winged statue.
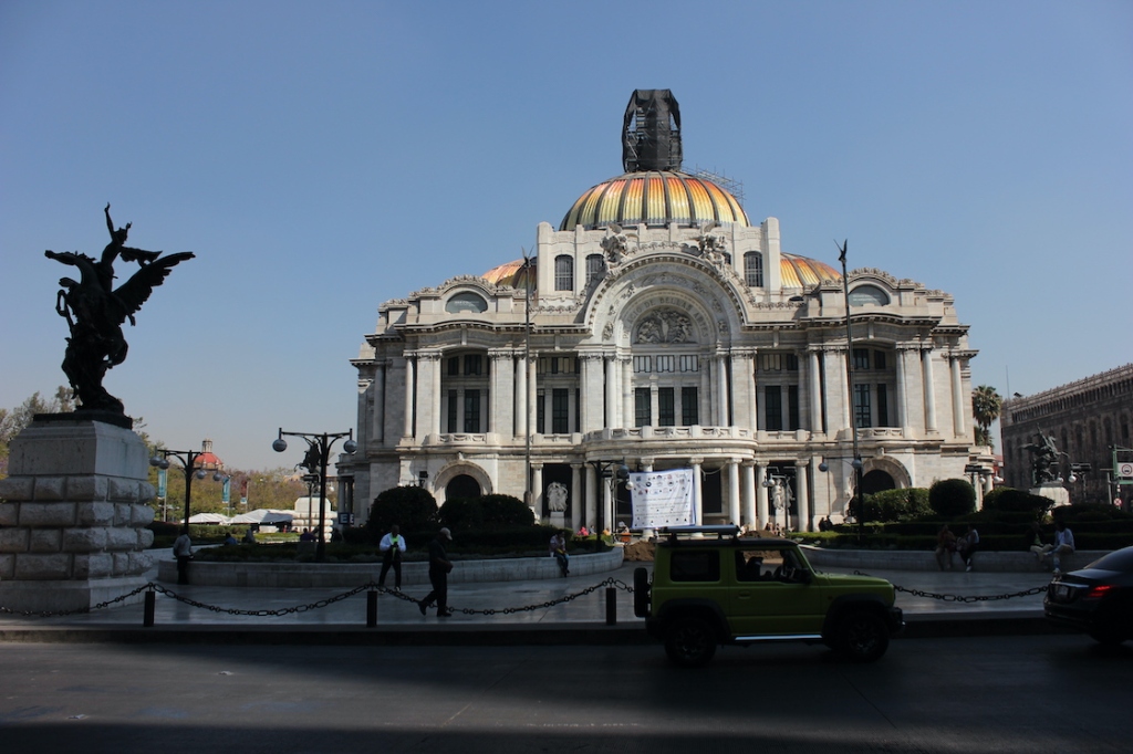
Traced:
POLYGON ((0 480, 0 606, 75 610, 146 583, 154 489, 140 437, 101 421, 36 418, 11 442, 8 472, 0 480))

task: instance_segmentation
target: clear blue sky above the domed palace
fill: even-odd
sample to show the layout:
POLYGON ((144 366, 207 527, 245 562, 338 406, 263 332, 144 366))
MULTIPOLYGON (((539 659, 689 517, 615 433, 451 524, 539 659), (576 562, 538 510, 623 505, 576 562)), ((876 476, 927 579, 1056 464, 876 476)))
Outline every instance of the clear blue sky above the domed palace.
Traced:
POLYGON ((1133 361, 1133 2, 6 0, 0 406, 66 384, 43 251, 97 256, 109 202, 196 258, 105 387, 168 447, 298 463, 272 440, 355 427, 383 302, 622 172, 636 88, 783 250, 952 294, 973 385, 1133 361))

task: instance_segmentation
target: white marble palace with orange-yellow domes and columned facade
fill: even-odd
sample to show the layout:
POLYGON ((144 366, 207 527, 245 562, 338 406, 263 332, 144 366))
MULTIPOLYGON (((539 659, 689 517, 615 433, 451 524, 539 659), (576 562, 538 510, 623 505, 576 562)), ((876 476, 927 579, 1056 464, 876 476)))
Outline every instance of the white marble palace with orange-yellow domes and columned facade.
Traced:
POLYGON ((845 515, 854 431, 867 492, 986 457, 949 294, 854 269, 847 343, 841 273, 785 251, 726 181, 682 171, 668 91, 633 93, 622 142, 624 172, 539 223, 528 260, 378 308, 352 360, 358 452, 339 463, 356 523, 418 483, 547 520, 557 482, 566 524, 612 528, 630 514, 624 463, 692 469, 699 522, 811 530, 845 515))

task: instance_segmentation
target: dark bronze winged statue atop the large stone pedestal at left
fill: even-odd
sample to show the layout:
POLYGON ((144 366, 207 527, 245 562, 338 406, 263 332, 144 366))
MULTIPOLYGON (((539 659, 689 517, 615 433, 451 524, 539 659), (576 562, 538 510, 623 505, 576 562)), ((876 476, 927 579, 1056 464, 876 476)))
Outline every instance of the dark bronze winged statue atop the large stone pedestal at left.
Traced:
POLYGON ((102 379, 107 370, 126 360, 128 345, 122 334, 122 324, 146 302, 153 289, 161 285, 170 271, 181 262, 191 259, 191 251, 162 256, 161 251, 146 251, 126 246, 130 223, 114 229, 107 215, 110 243, 95 260, 78 251, 57 254, 44 251, 49 259, 61 262, 78 269, 79 279, 61 277, 61 290, 56 297, 56 311, 67 320, 70 337, 63 353, 62 370, 75 391, 79 403, 76 413, 105 412, 125 417, 122 402, 107 392, 102 379), (138 269, 125 283, 114 288, 114 260, 136 262, 138 269))

